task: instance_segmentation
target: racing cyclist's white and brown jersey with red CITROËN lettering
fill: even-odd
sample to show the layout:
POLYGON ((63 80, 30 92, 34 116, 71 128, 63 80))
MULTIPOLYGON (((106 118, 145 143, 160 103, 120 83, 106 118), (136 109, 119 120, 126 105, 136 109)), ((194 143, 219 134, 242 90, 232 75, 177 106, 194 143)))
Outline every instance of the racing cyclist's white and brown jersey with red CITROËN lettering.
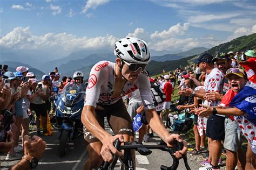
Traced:
POLYGON ((138 75, 136 83, 127 81, 122 93, 117 97, 112 97, 115 81, 114 66, 115 63, 113 62, 100 61, 92 67, 86 89, 84 105, 91 105, 93 107, 96 107, 98 103, 102 105, 111 105, 118 100, 122 100, 123 96, 139 89, 144 108, 146 110, 153 109, 154 102, 151 97, 150 82, 146 72, 142 72, 138 75))

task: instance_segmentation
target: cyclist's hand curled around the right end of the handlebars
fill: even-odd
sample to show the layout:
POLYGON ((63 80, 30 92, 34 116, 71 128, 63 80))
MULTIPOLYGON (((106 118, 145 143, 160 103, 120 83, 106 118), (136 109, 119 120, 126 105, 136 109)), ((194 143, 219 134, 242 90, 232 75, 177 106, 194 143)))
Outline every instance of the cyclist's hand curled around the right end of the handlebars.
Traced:
POLYGON ((181 141, 182 141, 182 143, 183 143, 183 145, 184 145, 183 150, 177 151, 177 152, 175 152, 175 153, 173 154, 177 159, 181 159, 181 158, 182 158, 182 155, 183 155, 183 154, 186 154, 186 152, 187 152, 187 143, 186 143, 185 140, 181 140, 181 137, 180 137, 179 134, 170 134, 170 136, 167 137, 167 139, 166 139, 166 141, 167 141, 167 146, 168 146, 168 147, 175 147, 175 146, 172 145, 172 144, 173 144, 173 141, 174 141, 175 139, 176 139, 178 142, 181 142, 181 141))

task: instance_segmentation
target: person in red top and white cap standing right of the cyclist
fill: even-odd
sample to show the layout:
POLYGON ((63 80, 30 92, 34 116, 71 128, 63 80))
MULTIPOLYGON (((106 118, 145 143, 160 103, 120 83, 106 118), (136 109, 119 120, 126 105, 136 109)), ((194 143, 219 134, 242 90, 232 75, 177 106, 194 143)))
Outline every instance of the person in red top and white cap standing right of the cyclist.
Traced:
MULTIPOLYGON (((163 104, 163 110, 166 110, 166 120, 168 118, 169 115, 169 109, 171 107, 171 100, 172 100, 172 83, 169 82, 170 80, 170 76, 169 75, 164 75, 164 80, 165 82, 163 82, 161 84, 161 89, 163 89, 164 94, 166 96, 164 104, 163 104)), ((161 112, 160 117, 163 119, 163 112, 161 112)))

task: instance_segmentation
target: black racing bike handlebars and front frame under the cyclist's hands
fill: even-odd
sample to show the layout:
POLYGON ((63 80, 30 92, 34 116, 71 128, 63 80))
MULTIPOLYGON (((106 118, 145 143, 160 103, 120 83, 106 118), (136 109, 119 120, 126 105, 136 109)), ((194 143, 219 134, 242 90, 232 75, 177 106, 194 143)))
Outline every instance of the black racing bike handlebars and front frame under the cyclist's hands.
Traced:
MULTIPOLYGON (((124 155, 122 155, 122 157, 120 157, 120 158, 117 158, 116 155, 113 155, 113 161, 111 163, 104 162, 103 166, 99 169, 100 170, 112 170, 112 169, 114 169, 114 166, 117 163, 117 159, 119 159, 120 162, 122 162, 124 164, 125 170, 132 170, 132 169, 134 169, 134 163, 133 163, 133 159, 132 159, 132 155, 131 155, 131 150, 136 150, 142 155, 149 155, 152 153, 152 151, 150 151, 149 149, 158 149, 161 151, 167 151, 171 154, 171 157, 173 159, 172 166, 167 167, 167 166, 161 165, 160 168, 162 170, 177 169, 179 166, 179 160, 176 157, 174 157, 173 153, 175 153, 176 151, 182 150, 183 144, 178 143, 177 140, 175 140, 175 143, 176 143, 176 147, 174 147, 174 148, 167 147, 166 145, 140 145, 140 144, 130 143, 130 142, 125 142, 124 145, 121 146, 120 141, 116 140, 114 142, 114 147, 116 147, 118 151, 124 150, 124 155)), ((186 169, 190 170, 190 167, 187 163, 186 155, 183 155, 183 160, 184 160, 186 169)))

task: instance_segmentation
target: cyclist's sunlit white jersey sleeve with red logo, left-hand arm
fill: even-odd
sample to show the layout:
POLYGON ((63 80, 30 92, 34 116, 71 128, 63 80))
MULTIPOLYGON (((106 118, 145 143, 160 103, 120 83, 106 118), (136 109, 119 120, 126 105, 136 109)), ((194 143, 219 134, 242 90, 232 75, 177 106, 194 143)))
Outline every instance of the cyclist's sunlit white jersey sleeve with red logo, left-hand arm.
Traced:
POLYGON ((91 69, 90 77, 88 79, 88 85, 86 88, 86 95, 84 100, 84 105, 91 105, 96 107, 99 95, 100 95, 100 87, 102 86, 104 80, 109 75, 107 74, 107 69, 99 69, 99 65, 104 64, 104 61, 100 61, 96 63, 91 69), (105 76, 104 76, 105 75, 105 76))

